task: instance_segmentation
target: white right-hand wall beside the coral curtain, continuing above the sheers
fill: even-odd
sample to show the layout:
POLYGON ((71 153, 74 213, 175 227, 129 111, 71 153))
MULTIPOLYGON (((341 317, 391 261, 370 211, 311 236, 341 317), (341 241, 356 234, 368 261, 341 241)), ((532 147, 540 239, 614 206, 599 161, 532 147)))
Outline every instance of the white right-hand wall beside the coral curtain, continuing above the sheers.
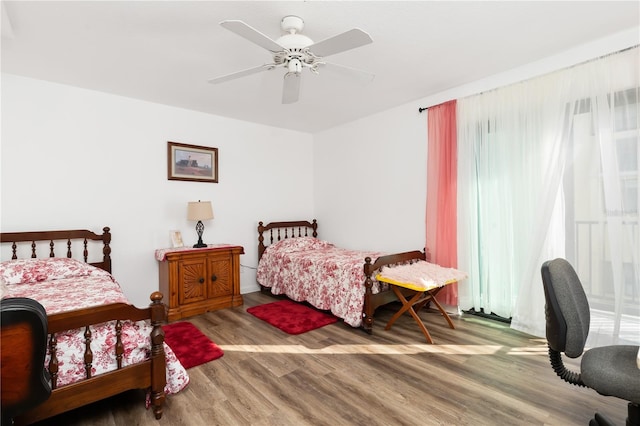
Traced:
POLYGON ((506 86, 638 43, 640 28, 632 28, 315 134, 319 235, 348 248, 421 250, 426 238, 427 113, 418 113, 419 107, 506 86))

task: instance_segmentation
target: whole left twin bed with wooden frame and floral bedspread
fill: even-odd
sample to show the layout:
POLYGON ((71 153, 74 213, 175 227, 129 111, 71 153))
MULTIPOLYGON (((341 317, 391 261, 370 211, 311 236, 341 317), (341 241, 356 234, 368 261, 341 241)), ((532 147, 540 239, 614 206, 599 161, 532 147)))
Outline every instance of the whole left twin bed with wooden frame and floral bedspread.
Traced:
POLYGON ((164 343, 162 294, 154 292, 149 307, 137 308, 111 275, 109 228, 102 234, 2 233, 0 241, 3 258, 8 245, 11 255, 0 263, 3 299, 37 300, 48 319, 45 364, 51 396, 19 416, 17 423, 32 423, 130 389, 147 389, 147 406, 160 419, 165 395, 183 389, 189 376, 164 343), (63 248, 56 246, 60 242, 63 248), (89 253, 96 246, 102 252, 97 259, 89 253), (42 251, 44 257, 38 258, 42 251), (80 259, 74 259, 78 251, 80 259))

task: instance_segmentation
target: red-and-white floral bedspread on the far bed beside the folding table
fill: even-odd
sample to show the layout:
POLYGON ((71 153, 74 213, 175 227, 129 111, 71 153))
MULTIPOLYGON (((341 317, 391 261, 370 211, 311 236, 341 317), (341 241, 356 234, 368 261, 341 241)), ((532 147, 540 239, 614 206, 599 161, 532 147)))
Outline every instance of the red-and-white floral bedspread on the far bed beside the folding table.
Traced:
MULTIPOLYGON (((287 238, 264 251, 257 280, 273 294, 329 310, 359 327, 365 295, 364 259, 368 256, 375 261, 384 254, 347 250, 312 237, 287 238)), ((372 291, 379 291, 377 282, 372 291)))

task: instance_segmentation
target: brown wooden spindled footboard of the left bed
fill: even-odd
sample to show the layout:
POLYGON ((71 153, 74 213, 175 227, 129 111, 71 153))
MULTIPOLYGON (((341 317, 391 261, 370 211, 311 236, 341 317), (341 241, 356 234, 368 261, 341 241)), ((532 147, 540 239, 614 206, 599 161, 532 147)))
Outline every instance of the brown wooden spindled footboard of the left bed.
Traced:
POLYGON ((50 357, 47 370, 51 376, 53 389, 51 397, 35 409, 18 417, 16 424, 33 423, 126 390, 147 388, 151 389, 151 405, 155 417, 160 419, 162 417, 165 399, 164 387, 166 384, 164 332, 161 325, 166 322, 166 311, 160 292, 154 292, 151 295, 151 301, 151 305, 145 309, 139 309, 124 303, 114 303, 50 315, 48 317, 48 352, 53 355, 50 357), (126 348, 122 343, 120 332, 122 322, 126 320, 150 320, 153 328, 150 336, 151 351, 149 359, 141 363, 123 366, 122 356, 126 348), (113 322, 115 327, 116 344, 114 351, 118 366, 114 371, 92 376, 93 352, 90 347, 92 336, 89 326, 107 322, 113 322), (85 346, 81 357, 84 359, 86 378, 80 382, 58 387, 56 384, 58 375, 58 358, 55 355, 56 335, 78 328, 85 330, 85 346))

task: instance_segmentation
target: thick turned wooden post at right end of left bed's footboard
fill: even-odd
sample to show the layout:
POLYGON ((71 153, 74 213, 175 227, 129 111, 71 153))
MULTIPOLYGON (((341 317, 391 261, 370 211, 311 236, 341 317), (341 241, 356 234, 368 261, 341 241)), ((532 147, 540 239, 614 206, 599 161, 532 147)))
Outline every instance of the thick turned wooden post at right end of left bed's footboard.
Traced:
POLYGON ((162 293, 156 291, 151 294, 151 406, 156 419, 162 417, 164 405, 164 388, 167 383, 167 360, 164 353, 164 330, 162 324, 166 322, 167 314, 162 303, 162 293))

